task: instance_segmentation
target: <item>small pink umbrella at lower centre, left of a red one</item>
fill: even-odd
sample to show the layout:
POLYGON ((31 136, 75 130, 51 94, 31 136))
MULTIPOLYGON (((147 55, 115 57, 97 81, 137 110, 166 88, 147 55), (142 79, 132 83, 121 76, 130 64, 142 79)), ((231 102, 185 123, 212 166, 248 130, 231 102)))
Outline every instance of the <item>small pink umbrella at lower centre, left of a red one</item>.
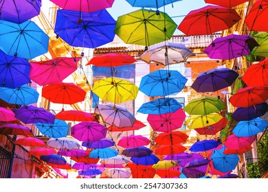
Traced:
POLYGON ((124 136, 118 142, 118 145, 124 148, 130 147, 141 147, 144 145, 148 145, 150 143, 150 139, 142 135, 130 135, 124 136))

